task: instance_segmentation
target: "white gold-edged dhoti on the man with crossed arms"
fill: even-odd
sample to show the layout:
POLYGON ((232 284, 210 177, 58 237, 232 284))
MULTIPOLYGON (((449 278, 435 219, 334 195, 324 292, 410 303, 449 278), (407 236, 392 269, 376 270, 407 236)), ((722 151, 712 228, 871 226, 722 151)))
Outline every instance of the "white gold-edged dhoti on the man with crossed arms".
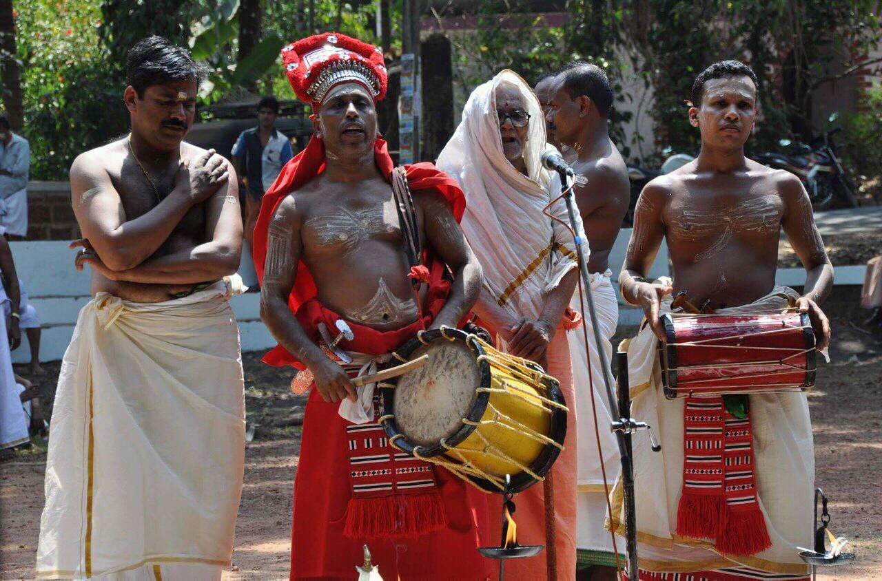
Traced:
POLYGON ((159 303, 99 293, 80 310, 52 414, 38 578, 221 578, 244 462, 232 288, 159 303))

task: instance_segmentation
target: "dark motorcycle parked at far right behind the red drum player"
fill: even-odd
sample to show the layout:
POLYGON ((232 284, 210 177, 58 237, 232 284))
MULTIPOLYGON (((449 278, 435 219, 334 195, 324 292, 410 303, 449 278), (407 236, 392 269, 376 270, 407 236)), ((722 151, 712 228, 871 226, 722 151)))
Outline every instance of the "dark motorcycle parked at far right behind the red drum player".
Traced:
MULTIPOLYGON (((837 113, 833 113, 829 122, 835 122, 838 117, 837 113)), ((788 148, 788 153, 759 153, 753 159, 769 168, 784 169, 796 175, 809 192, 815 211, 833 206, 855 208, 858 205, 857 197, 848 185, 833 142, 833 135, 841 130, 841 127, 827 130, 809 145, 781 139, 778 143, 788 148)))

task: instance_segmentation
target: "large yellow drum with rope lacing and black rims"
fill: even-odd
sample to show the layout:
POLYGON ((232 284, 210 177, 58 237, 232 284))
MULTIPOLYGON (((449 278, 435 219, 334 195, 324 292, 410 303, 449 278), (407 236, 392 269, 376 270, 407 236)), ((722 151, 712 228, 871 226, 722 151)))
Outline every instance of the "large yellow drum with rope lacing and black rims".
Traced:
POLYGON ((566 433, 557 380, 453 329, 424 331, 396 356, 423 354, 422 368, 378 384, 390 443, 485 490, 502 491, 506 474, 512 492, 543 480, 566 433))

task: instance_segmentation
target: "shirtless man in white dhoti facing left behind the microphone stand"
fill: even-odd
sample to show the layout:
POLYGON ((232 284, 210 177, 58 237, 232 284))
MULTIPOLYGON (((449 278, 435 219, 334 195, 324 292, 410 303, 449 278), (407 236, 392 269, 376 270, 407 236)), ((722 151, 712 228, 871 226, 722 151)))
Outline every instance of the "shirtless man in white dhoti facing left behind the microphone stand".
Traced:
MULTIPOLYGON (((591 273, 591 293, 601 335, 600 347, 606 354, 606 361, 610 361, 611 339, 618 323, 618 299, 609 280, 612 274, 609 271, 609 251, 616 242, 631 199, 628 168, 616 144, 609 138, 607 119, 613 93, 609 79, 600 67, 572 63, 552 79, 546 99, 546 123, 554 126, 562 146, 569 147, 577 156, 572 160, 572 169, 576 173, 576 204, 591 247, 588 272, 591 273)), ((578 293, 573 296, 571 307, 587 317, 587 302, 581 302, 578 293)), ((589 320, 586 318, 586 322, 589 320)), ((579 578, 613 579, 616 577, 616 557, 612 538, 603 530, 602 514, 606 511, 609 492, 605 482, 611 483, 619 470, 618 447, 616 437, 609 431, 611 415, 594 333, 588 331, 587 346, 582 333, 574 333, 570 348, 579 424, 577 547, 579 565, 590 567, 580 571, 579 578), (591 356, 590 373, 587 354, 591 356), (599 424, 598 435, 594 434, 592 398, 599 424), (598 441, 602 453, 597 450, 598 441)), ((624 547, 617 548, 620 553, 624 552, 624 547)))

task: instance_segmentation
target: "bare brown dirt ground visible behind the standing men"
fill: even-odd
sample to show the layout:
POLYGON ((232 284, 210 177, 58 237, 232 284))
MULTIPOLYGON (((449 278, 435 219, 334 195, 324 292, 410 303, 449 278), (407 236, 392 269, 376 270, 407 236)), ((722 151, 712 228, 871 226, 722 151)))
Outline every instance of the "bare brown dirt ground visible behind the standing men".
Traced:
MULTIPOLYGON (((882 329, 873 334, 860 328, 856 323, 865 313, 854 307, 856 293, 840 294, 827 304, 833 362, 821 365, 809 402, 817 486, 830 497, 833 532, 852 541, 858 560, 818 578, 882 579, 882 329)), ((225 579, 288 577, 292 479, 304 399, 288 390, 290 370, 268 368, 258 359, 258 354, 243 356, 254 438, 246 451, 234 564, 225 579)), ((40 385, 50 396, 59 364, 46 368, 40 385)), ((45 458, 44 442, 0 457, 0 578, 33 577, 45 458)))

